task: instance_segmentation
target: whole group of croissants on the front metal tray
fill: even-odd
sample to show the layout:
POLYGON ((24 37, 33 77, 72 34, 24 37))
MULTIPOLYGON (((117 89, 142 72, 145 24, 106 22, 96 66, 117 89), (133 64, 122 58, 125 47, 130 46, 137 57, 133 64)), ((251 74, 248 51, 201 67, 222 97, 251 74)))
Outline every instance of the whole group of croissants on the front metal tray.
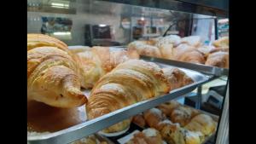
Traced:
MULTIPOLYGON (((68 48, 54 37, 28 34, 27 99, 66 108, 86 103, 86 114, 93 119, 193 83, 177 68, 161 69, 137 59, 132 49, 68 48), (82 88, 92 88, 88 98, 82 88)), ((125 130, 130 124, 131 118, 103 131, 125 130)))

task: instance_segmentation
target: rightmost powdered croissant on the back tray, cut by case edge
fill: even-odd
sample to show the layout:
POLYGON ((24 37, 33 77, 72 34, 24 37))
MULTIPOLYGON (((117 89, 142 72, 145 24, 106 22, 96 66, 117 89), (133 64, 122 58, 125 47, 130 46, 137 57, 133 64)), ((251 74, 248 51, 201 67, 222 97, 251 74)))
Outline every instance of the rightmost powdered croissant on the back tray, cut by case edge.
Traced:
POLYGON ((208 55, 206 65, 229 68, 230 66, 229 53, 218 51, 208 55))

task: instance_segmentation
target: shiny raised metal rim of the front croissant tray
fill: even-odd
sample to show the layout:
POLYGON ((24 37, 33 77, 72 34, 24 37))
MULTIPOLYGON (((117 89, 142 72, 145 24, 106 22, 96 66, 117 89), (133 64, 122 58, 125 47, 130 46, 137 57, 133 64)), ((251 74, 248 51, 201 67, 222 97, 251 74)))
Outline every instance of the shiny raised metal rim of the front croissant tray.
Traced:
MULTIPOLYGON (((170 65, 168 65, 170 66, 170 65)), ((126 118, 131 118, 137 113, 144 112, 145 110, 156 107, 166 101, 171 101, 181 95, 188 94, 201 84, 207 83, 212 80, 212 76, 207 76, 200 72, 195 72, 183 69, 190 77, 195 80, 195 83, 186 85, 179 89, 172 90, 169 94, 160 95, 146 101, 140 101, 129 107, 124 107, 114 112, 110 112, 102 117, 86 121, 82 124, 74 125, 65 130, 56 131, 45 135, 29 135, 27 141, 30 144, 45 144, 55 143, 63 144, 79 140, 84 136, 94 134, 103 130, 113 124, 116 124, 126 118)))

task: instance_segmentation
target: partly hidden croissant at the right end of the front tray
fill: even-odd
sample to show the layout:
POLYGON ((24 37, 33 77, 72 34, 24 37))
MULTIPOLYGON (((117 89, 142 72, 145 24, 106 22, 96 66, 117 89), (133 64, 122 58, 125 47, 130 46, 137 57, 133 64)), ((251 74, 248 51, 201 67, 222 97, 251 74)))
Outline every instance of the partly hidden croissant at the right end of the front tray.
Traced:
POLYGON ((172 85, 172 90, 194 83, 192 78, 189 78, 185 72, 176 67, 166 67, 162 70, 169 83, 172 85))

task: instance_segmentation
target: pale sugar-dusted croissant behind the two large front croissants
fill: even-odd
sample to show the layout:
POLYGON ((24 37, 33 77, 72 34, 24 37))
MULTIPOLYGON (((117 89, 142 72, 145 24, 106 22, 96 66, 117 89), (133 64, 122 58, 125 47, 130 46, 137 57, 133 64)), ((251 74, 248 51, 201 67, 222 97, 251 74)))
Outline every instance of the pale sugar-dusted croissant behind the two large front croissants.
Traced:
POLYGON ((139 58, 136 50, 110 51, 108 47, 93 47, 76 55, 79 56, 79 63, 83 69, 82 83, 85 89, 92 88, 103 75, 125 60, 139 58))

